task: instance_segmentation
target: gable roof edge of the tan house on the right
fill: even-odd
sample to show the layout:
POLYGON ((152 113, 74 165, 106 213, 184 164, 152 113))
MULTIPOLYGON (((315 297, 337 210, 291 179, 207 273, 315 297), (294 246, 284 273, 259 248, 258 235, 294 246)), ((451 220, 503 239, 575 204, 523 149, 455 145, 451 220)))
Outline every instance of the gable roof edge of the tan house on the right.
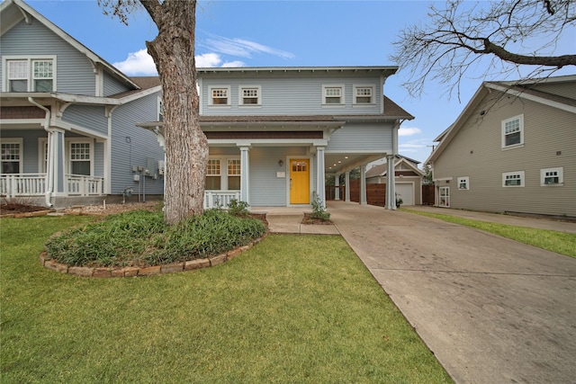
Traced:
POLYGON ((531 100, 536 103, 545 104, 566 112, 576 113, 576 99, 560 96, 557 94, 550 94, 548 92, 535 89, 533 86, 544 83, 576 83, 576 75, 569 76, 554 76, 542 79, 534 79, 531 81, 486 81, 478 88, 472 99, 464 107, 463 112, 456 118, 446 130, 444 130, 435 142, 439 142, 436 149, 428 156, 424 164, 429 164, 437 159, 438 156, 445 150, 448 144, 455 137, 456 133, 464 126, 464 122, 468 120, 475 108, 482 103, 487 94, 492 91, 498 91, 503 94, 509 94, 514 97, 531 100))

